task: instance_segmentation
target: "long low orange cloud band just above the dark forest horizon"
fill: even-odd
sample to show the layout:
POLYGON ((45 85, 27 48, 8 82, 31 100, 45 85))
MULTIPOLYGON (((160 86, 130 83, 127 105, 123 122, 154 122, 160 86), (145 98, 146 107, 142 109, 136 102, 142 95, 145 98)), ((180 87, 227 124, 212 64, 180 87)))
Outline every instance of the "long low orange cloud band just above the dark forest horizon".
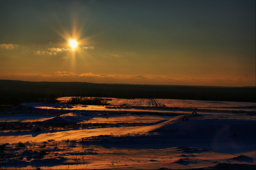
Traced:
POLYGON ((77 74, 68 71, 56 71, 53 74, 43 73, 4 73, 0 79, 26 81, 86 81, 98 83, 129 84, 172 84, 172 85, 206 85, 206 86, 255 86, 255 80, 241 78, 172 78, 165 75, 127 75, 127 74, 77 74))

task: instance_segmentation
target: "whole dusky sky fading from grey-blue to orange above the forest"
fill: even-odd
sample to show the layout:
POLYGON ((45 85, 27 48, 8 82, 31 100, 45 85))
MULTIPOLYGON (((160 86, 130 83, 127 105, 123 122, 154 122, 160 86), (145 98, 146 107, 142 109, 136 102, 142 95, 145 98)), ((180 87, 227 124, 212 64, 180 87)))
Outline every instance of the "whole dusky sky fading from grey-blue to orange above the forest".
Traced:
POLYGON ((1 0, 0 79, 256 86, 255 6, 255 0, 1 0))

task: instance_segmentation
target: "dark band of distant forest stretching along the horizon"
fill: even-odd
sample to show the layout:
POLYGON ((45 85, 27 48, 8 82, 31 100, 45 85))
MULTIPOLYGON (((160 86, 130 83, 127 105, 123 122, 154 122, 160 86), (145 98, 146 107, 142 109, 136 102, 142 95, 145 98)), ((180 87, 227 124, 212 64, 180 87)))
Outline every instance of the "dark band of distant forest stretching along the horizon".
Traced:
POLYGON ((255 102, 256 87, 99 84, 0 80, 0 104, 51 102, 57 97, 162 98, 255 102))

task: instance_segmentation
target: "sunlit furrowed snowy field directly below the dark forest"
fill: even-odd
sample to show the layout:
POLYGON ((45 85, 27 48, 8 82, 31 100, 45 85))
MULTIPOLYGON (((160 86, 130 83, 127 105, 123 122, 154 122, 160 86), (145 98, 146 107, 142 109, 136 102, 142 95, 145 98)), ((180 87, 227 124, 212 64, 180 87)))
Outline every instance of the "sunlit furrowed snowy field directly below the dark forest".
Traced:
MULTIPOLYGON (((63 102, 71 97, 58 98, 63 102)), ((118 99, 106 98, 110 107, 104 105, 83 105, 83 104, 49 104, 49 103, 22 103, 26 106, 33 106, 41 109, 62 109, 62 110, 101 110, 101 111, 150 111, 150 112, 176 112, 190 113, 185 110, 156 109, 156 107, 172 108, 198 108, 204 110, 242 110, 255 112, 256 103, 251 102, 225 102, 225 101, 202 101, 202 100, 181 100, 181 99, 118 99), (111 108, 111 106, 114 106, 111 108), (122 106, 121 108, 115 106, 122 106), (254 108, 246 108, 252 107, 254 108), (132 108, 136 107, 136 108, 132 108), (143 108, 146 107, 146 108, 143 108), (152 107, 152 108, 150 108, 152 107)))

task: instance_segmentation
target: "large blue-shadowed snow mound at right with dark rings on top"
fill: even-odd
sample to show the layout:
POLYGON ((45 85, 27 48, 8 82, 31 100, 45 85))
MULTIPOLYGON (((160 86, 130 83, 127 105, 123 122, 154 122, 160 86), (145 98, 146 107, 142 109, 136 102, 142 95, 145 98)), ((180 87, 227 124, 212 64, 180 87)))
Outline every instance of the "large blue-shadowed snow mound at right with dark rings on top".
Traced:
POLYGON ((189 114, 174 117, 161 124, 156 124, 148 132, 172 132, 173 137, 227 140, 255 136, 255 120, 205 118, 200 114, 189 114), (184 118, 187 117, 187 118, 184 118))

